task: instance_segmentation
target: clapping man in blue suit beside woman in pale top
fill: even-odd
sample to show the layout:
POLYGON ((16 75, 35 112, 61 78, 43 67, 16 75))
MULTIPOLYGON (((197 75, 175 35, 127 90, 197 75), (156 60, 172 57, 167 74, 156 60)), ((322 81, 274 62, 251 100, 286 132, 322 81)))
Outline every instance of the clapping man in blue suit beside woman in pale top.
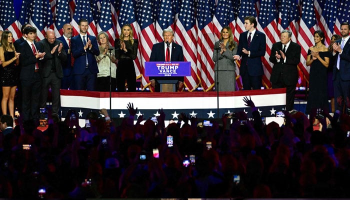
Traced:
POLYGON ((87 35, 88 21, 80 19, 79 34, 72 37, 71 54, 74 57, 74 88, 78 90, 95 90, 98 68, 95 55, 99 54, 96 37, 87 35))

